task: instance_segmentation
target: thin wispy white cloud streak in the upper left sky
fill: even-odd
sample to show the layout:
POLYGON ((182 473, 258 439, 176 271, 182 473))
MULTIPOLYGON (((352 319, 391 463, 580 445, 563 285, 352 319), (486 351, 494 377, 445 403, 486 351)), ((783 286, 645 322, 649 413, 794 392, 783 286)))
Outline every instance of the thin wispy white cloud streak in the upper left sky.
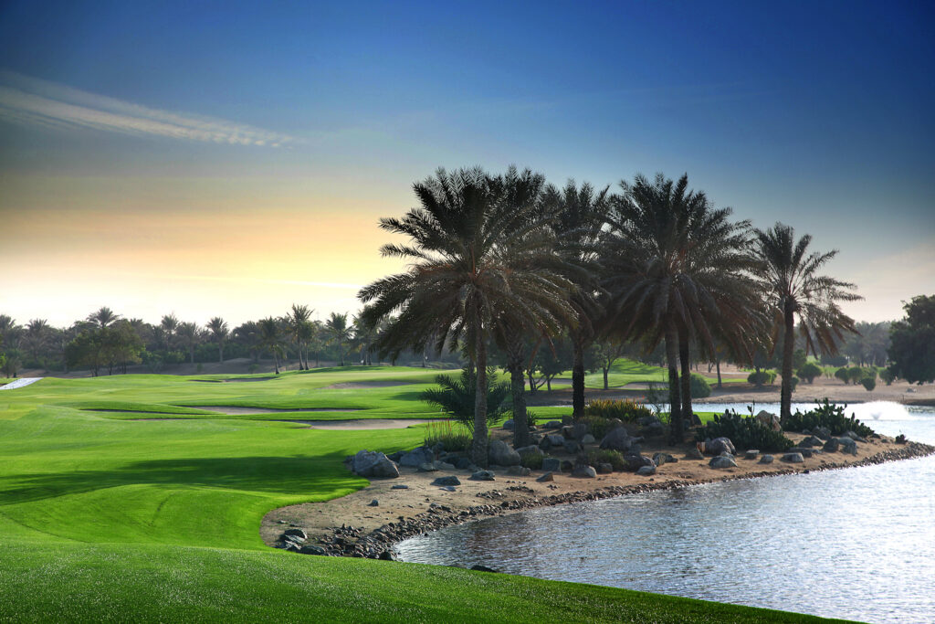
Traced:
POLYGON ((0 71, 0 119, 230 145, 281 147, 296 142, 288 135, 251 125, 151 109, 7 71, 0 71))

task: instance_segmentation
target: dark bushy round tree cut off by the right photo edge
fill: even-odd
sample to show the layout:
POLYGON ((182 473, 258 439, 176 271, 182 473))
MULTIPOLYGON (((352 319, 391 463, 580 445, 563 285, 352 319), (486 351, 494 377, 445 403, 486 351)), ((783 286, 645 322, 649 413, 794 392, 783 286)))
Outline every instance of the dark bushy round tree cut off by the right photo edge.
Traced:
POLYGON ((919 295, 902 309, 906 316, 890 329, 889 367, 910 384, 935 381, 935 295, 919 295))

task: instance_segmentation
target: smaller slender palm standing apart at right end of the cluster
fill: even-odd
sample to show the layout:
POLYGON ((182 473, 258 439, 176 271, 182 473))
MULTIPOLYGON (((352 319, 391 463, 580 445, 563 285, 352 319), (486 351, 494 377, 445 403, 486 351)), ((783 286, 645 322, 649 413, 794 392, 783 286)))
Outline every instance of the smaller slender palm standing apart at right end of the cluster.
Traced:
POLYGON ((808 253, 812 237, 796 240, 795 230, 777 223, 770 229, 755 230, 755 254, 762 263, 763 286, 774 313, 773 344, 783 331, 783 386, 780 395, 780 419, 790 415, 792 404, 792 356, 795 348, 796 317, 798 330, 805 340, 805 353, 833 354, 844 331, 856 331, 854 319, 841 312, 838 301, 862 298, 849 292, 853 283, 818 275, 837 250, 826 254, 808 253))

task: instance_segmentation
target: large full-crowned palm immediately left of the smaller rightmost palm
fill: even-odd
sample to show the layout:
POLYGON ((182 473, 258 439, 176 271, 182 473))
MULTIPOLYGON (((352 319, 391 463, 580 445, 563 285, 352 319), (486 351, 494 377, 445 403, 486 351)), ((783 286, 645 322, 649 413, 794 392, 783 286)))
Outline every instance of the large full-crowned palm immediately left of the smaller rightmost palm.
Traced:
POLYGON ((727 221, 730 209, 713 210, 707 197, 657 174, 620 183, 607 238, 615 274, 617 311, 629 315, 625 335, 665 344, 673 443, 683 442, 690 418, 689 341, 711 345, 714 333, 749 341, 758 318, 753 268, 746 252, 746 222, 727 221), (717 331, 715 331, 715 328, 717 331), (679 365, 682 388, 679 388, 679 365))

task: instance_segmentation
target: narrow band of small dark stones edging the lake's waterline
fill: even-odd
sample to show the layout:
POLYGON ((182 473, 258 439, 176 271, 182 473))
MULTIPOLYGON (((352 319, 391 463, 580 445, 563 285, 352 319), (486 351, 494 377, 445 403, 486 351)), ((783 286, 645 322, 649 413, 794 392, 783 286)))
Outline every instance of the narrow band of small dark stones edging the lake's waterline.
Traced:
MULTIPOLYGON (((422 535, 432 530, 444 529, 455 524, 463 524, 485 517, 507 515, 516 512, 534 509, 536 507, 549 507, 563 505, 570 502, 600 501, 619 496, 640 494, 658 490, 675 490, 687 486, 697 486, 718 482, 736 481, 739 479, 755 479, 759 477, 775 476, 779 474, 797 474, 799 472, 837 470, 841 468, 855 468, 871 466, 887 461, 911 459, 913 457, 926 457, 935 454, 935 446, 924 443, 906 443, 900 448, 889 449, 882 453, 866 457, 853 463, 829 463, 816 466, 809 470, 788 468, 780 472, 751 472, 744 474, 726 474, 710 479, 647 482, 632 486, 606 486, 593 491, 577 491, 552 496, 531 497, 514 501, 502 501, 497 504, 472 505, 467 509, 453 510, 450 506, 431 503, 427 511, 409 518, 390 522, 378 529, 365 534, 365 530, 352 526, 341 525, 325 534, 317 544, 307 544, 305 535, 301 540, 296 538, 295 530, 286 530, 280 536, 278 546, 294 552, 309 555, 324 555, 332 557, 357 557, 367 559, 393 559, 393 545, 403 540, 422 535), (291 532, 292 531, 292 532, 291 532), (288 539, 287 539, 288 538, 288 539)), ((513 489, 513 488, 511 488, 513 489)), ((304 531, 302 531, 304 533, 304 531)))

